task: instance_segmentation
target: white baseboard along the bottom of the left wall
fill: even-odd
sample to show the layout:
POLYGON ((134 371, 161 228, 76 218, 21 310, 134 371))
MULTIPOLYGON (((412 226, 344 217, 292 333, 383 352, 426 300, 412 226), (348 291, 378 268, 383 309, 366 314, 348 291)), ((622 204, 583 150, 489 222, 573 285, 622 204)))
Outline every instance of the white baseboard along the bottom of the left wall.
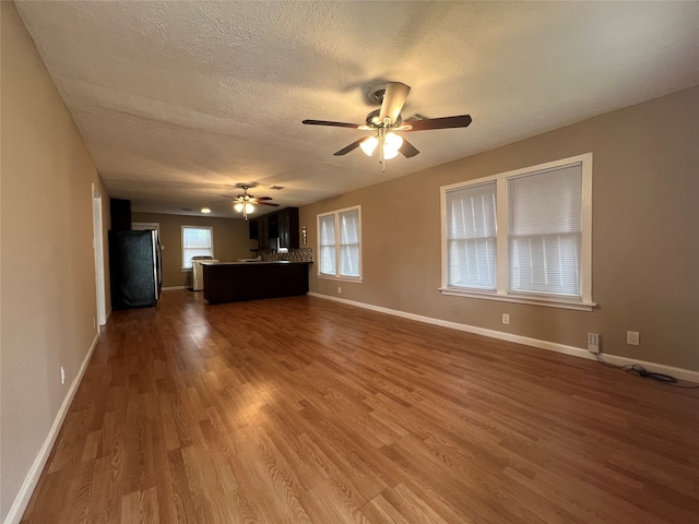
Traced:
POLYGON ((56 439, 58 438, 58 432, 63 425, 63 420, 68 415, 68 409, 70 408, 71 403, 73 402, 73 397, 75 396, 75 392, 78 392, 78 386, 80 382, 83 380, 83 376, 87 370, 87 365, 90 364, 90 359, 92 358, 92 354, 95 352, 95 347, 97 347, 97 343, 99 342, 99 334, 95 334, 95 338, 92 341, 92 345, 90 346, 90 350, 85 358, 83 359, 82 365, 80 366, 80 370, 78 374, 73 379, 70 384, 70 389, 63 398, 63 403, 61 404, 60 409, 56 414, 56 418, 54 419, 54 425, 46 436, 46 440, 44 440, 44 444, 39 449, 36 458, 34 458, 34 463, 32 467, 29 467, 22 486, 20 487, 20 491, 17 496, 14 498, 14 502, 12 502, 12 507, 8 512, 8 516, 4 519, 3 524, 19 524, 22 520, 22 515, 26 510, 27 504, 29 503, 29 499, 32 498, 32 493, 34 493, 34 489, 36 488, 36 484, 39 481, 39 477, 42 476, 42 472, 44 471, 44 466, 46 466, 46 462, 54 449, 54 444, 56 443, 56 439))

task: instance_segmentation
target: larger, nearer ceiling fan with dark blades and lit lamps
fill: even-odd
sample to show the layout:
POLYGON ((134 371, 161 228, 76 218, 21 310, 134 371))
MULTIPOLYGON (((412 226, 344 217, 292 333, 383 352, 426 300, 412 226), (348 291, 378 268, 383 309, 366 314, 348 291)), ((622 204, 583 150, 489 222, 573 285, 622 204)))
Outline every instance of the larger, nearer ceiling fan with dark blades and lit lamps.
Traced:
POLYGON ((379 164, 381 164, 381 170, 386 171, 386 160, 393 158, 401 153, 406 158, 411 158, 419 153, 417 148, 405 140, 395 131, 428 131, 433 129, 450 129, 450 128, 466 128, 471 123, 470 115, 459 115, 454 117, 443 118, 426 118, 423 120, 415 120, 404 122, 401 118, 401 110, 405 104, 405 98, 410 93, 411 87, 401 82, 389 82, 379 88, 375 88, 372 93, 369 93, 369 97, 376 102, 381 103, 381 108, 376 109, 367 115, 366 123, 346 123, 346 122, 332 122, 328 120, 304 120, 303 123, 307 126, 331 126, 335 128, 353 128, 365 131, 372 131, 372 134, 363 139, 356 140, 346 147, 334 153, 335 156, 346 155, 351 151, 362 147, 368 156, 374 154, 374 151, 379 150, 379 164))

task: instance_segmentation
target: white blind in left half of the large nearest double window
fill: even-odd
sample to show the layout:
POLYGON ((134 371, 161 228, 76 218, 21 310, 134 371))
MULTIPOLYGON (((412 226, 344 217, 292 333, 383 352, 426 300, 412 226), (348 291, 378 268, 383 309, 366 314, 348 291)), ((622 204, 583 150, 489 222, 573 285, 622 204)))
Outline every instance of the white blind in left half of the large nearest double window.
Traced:
POLYGON ((496 182, 447 193, 449 285, 495 290, 496 182))

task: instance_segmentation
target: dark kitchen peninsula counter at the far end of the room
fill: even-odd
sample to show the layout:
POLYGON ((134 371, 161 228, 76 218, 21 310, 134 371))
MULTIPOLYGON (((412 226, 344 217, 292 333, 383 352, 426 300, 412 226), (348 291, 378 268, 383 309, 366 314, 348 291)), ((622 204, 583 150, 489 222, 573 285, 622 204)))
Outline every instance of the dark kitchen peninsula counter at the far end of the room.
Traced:
POLYGON ((204 262, 204 298, 209 303, 289 297, 308 293, 311 262, 204 262))

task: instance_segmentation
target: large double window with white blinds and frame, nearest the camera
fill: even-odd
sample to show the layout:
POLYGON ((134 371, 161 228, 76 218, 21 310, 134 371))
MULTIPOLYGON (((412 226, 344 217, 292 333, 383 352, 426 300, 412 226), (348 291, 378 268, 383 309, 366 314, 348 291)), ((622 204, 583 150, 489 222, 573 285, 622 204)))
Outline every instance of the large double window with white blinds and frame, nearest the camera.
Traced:
POLYGON ((594 306, 591 153, 441 193, 443 294, 594 306))

